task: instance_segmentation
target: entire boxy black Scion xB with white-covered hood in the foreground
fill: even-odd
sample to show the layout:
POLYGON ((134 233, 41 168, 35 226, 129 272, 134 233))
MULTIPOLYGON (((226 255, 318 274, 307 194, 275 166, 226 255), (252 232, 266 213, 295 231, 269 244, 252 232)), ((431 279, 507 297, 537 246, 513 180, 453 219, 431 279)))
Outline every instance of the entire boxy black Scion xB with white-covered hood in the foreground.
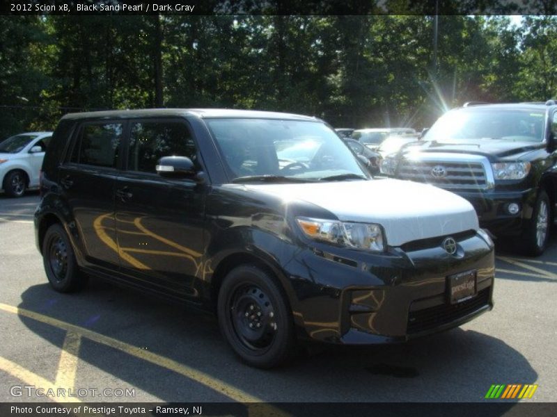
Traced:
POLYGON ((407 341, 492 309, 494 252, 465 199, 371 179, 315 117, 70 114, 42 166, 50 284, 94 275, 216 311, 252 366, 298 341, 407 341))

